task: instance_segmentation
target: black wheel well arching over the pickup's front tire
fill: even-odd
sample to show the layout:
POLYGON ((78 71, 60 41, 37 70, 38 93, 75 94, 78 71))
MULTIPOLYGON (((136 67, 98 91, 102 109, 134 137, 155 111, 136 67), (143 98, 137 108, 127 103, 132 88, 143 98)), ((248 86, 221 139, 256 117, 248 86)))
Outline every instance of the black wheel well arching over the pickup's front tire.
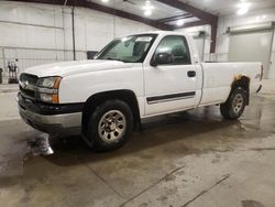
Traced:
POLYGON ((105 92, 92 95, 85 102, 84 110, 82 110, 82 124, 81 124, 82 133, 85 133, 87 130, 87 124, 88 124, 90 115, 92 115, 92 112, 97 109, 98 106, 111 99, 119 99, 119 100, 127 102, 132 109, 135 124, 140 123, 141 121, 140 108, 139 108, 136 96, 132 90, 105 91, 105 92))

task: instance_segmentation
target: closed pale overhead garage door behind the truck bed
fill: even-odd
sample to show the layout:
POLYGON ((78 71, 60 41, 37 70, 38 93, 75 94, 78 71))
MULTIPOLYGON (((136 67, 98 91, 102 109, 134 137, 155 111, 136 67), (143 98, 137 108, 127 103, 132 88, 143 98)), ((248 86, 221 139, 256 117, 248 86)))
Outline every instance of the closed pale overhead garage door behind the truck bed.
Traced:
POLYGON ((238 33, 230 35, 230 62, 261 62, 266 78, 273 33, 270 31, 238 33))

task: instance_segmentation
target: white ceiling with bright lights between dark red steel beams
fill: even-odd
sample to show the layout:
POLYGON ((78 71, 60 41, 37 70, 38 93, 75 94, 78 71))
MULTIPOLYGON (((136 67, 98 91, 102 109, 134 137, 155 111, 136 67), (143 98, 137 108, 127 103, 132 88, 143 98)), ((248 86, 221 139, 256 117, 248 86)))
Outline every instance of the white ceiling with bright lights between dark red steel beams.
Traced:
MULTIPOLYGON (((117 10, 122 10, 139 17, 144 17, 150 20, 160 21, 172 25, 177 26, 178 20, 182 19, 185 24, 190 22, 198 22, 200 19, 194 14, 190 14, 183 9, 177 7, 172 7, 173 1, 163 1, 150 0, 150 4, 153 7, 151 15, 144 15, 144 6, 146 0, 109 0, 103 2, 102 0, 88 0, 105 7, 113 8, 117 10), (176 18, 172 18, 176 17, 176 18), (180 18, 182 17, 182 18, 180 18), (172 18, 172 19, 170 19, 172 18)), ((213 15, 229 15, 235 14, 238 10, 238 4, 240 2, 249 2, 250 10, 258 10, 275 7, 275 0, 178 0, 183 3, 187 3, 197 9, 200 9, 207 13, 213 15)))

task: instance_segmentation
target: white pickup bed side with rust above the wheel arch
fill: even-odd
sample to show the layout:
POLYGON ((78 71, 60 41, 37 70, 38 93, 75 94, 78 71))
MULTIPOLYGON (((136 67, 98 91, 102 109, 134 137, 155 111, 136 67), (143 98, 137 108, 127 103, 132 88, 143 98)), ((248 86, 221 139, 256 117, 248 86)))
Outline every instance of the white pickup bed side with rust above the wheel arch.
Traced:
POLYGON ((232 83, 241 76, 250 79, 250 94, 256 92, 261 86, 261 63, 201 63, 201 67, 204 77, 200 106, 224 102, 232 83))

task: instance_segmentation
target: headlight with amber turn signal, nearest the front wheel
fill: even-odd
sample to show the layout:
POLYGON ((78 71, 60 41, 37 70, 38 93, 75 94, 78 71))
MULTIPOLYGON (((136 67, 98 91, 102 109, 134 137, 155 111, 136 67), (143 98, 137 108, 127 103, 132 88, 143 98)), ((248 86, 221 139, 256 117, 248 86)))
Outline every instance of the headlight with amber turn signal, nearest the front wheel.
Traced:
POLYGON ((42 102, 58 103, 61 77, 40 78, 37 83, 37 99, 42 102))

